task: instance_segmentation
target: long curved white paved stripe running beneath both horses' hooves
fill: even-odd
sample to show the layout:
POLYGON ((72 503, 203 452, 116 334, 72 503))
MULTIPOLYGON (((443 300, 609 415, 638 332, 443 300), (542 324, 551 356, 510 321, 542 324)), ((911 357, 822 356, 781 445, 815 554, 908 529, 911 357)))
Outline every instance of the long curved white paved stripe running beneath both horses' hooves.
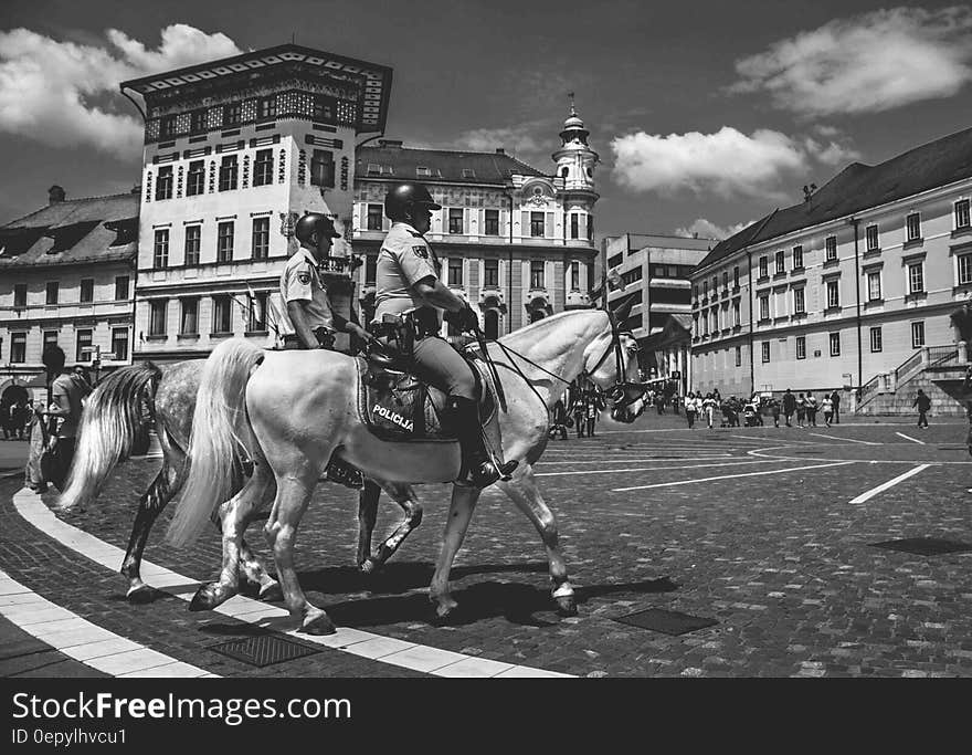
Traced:
MULTIPOLYGON (((34 527, 53 537, 62 545, 76 550, 93 562, 112 569, 117 568, 118 563, 125 556, 125 552, 108 543, 105 543, 83 529, 62 522, 54 512, 44 505, 39 495, 28 489, 21 489, 13 494, 13 505, 18 513, 34 527)), ((150 587, 173 595, 177 598, 189 601, 196 594, 199 581, 171 572, 162 566, 148 560, 141 562, 142 579, 150 587)), ((2 587, 2 583, 0 583, 2 587)), ((3 595, 0 589, 0 595, 3 595)), ((236 618, 240 621, 258 625, 268 629, 275 629, 287 635, 298 637, 305 642, 314 642, 340 652, 351 653, 362 658, 369 658, 382 663, 390 663, 405 669, 416 668, 421 662, 421 670, 436 677, 570 677, 572 674, 545 671, 526 665, 513 665, 500 663, 486 658, 465 656, 463 653, 430 648, 413 642, 405 642, 393 638, 372 635, 360 629, 338 627, 334 635, 315 636, 298 633, 293 629, 294 620, 284 608, 267 605, 260 600, 234 596, 215 609, 223 616, 236 618), (416 658, 419 660, 416 660, 416 658), (454 668, 453 668, 454 667, 454 668)), ((135 644, 135 643, 133 643, 135 644)), ((130 649, 130 648, 129 648, 130 649)), ((129 650, 126 649, 126 650, 129 650)), ((138 649, 136 647, 136 649, 138 649)), ((155 652, 142 648, 147 652, 155 652)), ((118 651, 114 651, 118 652, 118 651)), ((124 653, 123 653, 124 654, 124 653)), ((161 653, 159 653, 161 654, 161 653)), ((155 657, 152 657, 155 658, 155 657)), ((131 658, 133 662, 149 662, 148 657, 139 654, 131 658)), ((171 659, 170 659, 171 660, 171 659)))

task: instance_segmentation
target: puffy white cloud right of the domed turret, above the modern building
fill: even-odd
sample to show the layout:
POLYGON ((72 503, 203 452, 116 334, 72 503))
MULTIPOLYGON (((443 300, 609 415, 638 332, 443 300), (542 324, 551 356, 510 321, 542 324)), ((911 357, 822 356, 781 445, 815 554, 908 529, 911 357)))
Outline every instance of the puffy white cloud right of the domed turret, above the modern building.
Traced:
POLYGON ((785 134, 758 129, 751 136, 729 126, 715 134, 655 136, 638 132, 611 143, 614 180, 634 191, 690 190, 721 197, 765 197, 786 172, 805 168, 805 147, 785 134))

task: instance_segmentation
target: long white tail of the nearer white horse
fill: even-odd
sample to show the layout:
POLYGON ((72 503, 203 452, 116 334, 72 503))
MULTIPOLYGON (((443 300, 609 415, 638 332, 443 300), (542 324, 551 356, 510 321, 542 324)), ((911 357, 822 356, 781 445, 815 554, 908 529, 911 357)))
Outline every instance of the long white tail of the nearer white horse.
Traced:
POLYGON ((241 434, 251 448, 255 443, 246 420, 246 384, 262 361, 263 349, 237 338, 216 346, 205 360, 192 416, 189 478, 166 535, 171 545, 194 541, 213 508, 239 486, 243 458, 251 454, 241 434))

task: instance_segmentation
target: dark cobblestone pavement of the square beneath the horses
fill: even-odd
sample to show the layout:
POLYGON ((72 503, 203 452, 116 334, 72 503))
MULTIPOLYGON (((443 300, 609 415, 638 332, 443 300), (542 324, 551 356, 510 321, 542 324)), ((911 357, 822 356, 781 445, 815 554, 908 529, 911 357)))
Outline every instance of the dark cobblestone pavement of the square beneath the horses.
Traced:
MULTIPOLYGON (((964 423, 695 430, 651 415, 605 422, 596 438, 552 441, 537 466, 558 517, 579 615, 560 618, 539 537, 487 490, 453 570, 456 623, 430 622, 425 596, 448 489, 421 489, 421 528, 383 573, 352 566, 357 501, 321 485, 298 534, 309 598, 335 622, 507 663, 587 677, 972 677, 972 552, 922 556, 876 543, 940 538, 972 546, 972 464, 964 423), (910 476, 902 476, 906 473, 910 476), (875 491, 892 479, 895 484, 875 491), (857 502, 854 502, 857 501, 857 502), (615 619, 649 608, 716 625, 668 636, 615 619)), ((119 468, 66 522, 124 548, 150 461, 119 468)), ((415 675, 339 650, 256 669, 209 650, 247 626, 190 614, 159 594, 130 606, 117 574, 39 532, 0 482, 0 569, 110 631, 212 673, 415 675)), ((383 501, 378 532, 398 507, 383 501)), ((215 576, 213 531, 194 546, 146 558, 193 579, 215 576)), ((258 527, 249 541, 264 556, 258 527)), ((55 668, 55 667, 52 667, 55 668)))

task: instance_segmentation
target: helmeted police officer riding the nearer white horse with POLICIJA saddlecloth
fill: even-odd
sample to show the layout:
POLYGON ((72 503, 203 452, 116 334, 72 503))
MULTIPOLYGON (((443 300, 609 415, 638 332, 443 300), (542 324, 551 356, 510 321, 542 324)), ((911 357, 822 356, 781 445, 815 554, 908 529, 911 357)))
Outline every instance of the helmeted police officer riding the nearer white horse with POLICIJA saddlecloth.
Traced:
POLYGON ((440 277, 440 262, 425 241, 432 210, 442 206, 432 199, 422 183, 399 183, 384 198, 384 213, 392 221, 381 244, 376 272, 374 319, 372 328, 385 335, 385 315, 400 315, 416 308, 415 340, 412 358, 420 377, 447 395, 448 418, 462 447, 464 476, 459 480, 476 487, 492 485, 517 465, 507 462, 499 469, 486 452, 479 424, 476 381, 466 360, 442 337, 440 313, 456 313, 453 324, 461 329, 478 325, 468 303, 446 286, 440 277))

